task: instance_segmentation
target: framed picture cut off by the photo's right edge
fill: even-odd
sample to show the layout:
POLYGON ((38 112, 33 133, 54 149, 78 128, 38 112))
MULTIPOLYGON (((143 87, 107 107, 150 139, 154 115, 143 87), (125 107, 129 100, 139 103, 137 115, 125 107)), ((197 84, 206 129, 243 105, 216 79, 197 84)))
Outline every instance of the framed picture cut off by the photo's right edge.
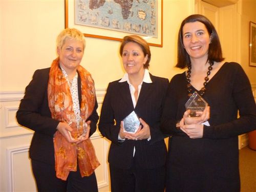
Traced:
POLYGON ((250 22, 249 66, 256 67, 256 24, 250 22))

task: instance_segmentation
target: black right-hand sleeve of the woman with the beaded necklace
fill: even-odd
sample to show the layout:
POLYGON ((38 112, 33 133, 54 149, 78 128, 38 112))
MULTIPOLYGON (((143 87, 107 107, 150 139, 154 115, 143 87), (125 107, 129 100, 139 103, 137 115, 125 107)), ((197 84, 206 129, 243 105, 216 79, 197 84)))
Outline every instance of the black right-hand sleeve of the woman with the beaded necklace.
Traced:
MULTIPOLYGON (((231 99, 234 106, 239 110, 239 118, 216 125, 204 126, 204 138, 229 138, 256 130, 256 106, 249 79, 240 65, 234 66, 236 68, 232 70, 234 75, 229 86, 232 88, 231 99)), ((218 108, 221 110, 221 106, 218 108)), ((229 108, 234 107, 231 105, 229 108)), ((237 116, 237 113, 233 115, 237 116)))

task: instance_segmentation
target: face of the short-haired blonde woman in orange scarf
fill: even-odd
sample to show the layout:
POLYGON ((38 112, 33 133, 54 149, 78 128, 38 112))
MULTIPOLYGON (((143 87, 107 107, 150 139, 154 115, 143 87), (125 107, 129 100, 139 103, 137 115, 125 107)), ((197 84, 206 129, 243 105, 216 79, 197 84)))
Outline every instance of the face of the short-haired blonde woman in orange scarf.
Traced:
POLYGON ((67 38, 61 48, 57 48, 60 66, 67 72, 76 71, 83 56, 83 42, 67 38))

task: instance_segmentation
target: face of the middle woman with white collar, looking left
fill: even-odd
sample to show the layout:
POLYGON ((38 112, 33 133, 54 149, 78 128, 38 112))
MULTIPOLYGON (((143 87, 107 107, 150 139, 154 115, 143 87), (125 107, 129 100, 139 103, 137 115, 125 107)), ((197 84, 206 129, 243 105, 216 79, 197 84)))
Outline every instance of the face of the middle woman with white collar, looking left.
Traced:
POLYGON ((144 74, 144 64, 147 61, 147 55, 136 42, 128 42, 123 47, 122 61, 124 70, 128 75, 142 75, 144 74))

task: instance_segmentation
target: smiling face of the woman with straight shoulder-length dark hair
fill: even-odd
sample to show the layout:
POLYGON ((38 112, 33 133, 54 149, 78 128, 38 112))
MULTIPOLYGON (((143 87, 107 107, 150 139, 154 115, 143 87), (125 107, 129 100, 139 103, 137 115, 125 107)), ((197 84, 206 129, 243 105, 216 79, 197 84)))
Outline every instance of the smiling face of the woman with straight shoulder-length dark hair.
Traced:
POLYGON ((182 29, 183 46, 190 60, 208 59, 210 35, 201 22, 186 23, 182 29))

